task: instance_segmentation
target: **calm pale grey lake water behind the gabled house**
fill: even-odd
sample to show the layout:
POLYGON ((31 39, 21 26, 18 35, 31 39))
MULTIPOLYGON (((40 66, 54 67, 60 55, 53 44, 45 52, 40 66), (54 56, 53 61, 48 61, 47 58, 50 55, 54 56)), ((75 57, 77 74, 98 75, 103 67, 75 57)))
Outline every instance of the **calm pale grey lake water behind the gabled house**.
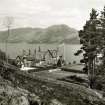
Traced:
MULTIPOLYGON (((34 50, 38 50, 38 48, 41 48, 42 51, 45 51, 47 49, 58 49, 59 54, 63 55, 64 59, 67 63, 73 61, 76 61, 79 63, 80 59, 82 58, 82 55, 80 56, 74 56, 74 53, 81 47, 81 45, 70 45, 70 44, 27 44, 27 43, 17 43, 17 44, 10 44, 8 43, 8 55, 11 58, 15 58, 17 55, 22 54, 23 50, 28 51, 29 49, 34 52, 34 50)), ((0 43, 0 49, 5 51, 5 44, 0 43)))

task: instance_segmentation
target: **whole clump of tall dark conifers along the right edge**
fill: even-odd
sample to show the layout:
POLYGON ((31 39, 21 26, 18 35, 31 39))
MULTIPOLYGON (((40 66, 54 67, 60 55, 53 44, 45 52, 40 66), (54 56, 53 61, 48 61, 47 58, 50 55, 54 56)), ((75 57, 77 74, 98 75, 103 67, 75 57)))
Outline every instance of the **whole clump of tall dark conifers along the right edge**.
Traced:
POLYGON ((102 83, 102 75, 105 74, 103 73, 105 72, 105 7, 100 14, 101 16, 95 9, 92 9, 90 19, 86 21, 83 30, 79 31, 82 47, 75 55, 83 53, 83 59, 80 62, 85 64, 83 70, 88 73, 90 87, 99 86, 102 89, 100 83, 102 83), (98 59, 98 54, 102 55, 101 60, 98 59), (97 59, 102 63, 96 64, 97 59))

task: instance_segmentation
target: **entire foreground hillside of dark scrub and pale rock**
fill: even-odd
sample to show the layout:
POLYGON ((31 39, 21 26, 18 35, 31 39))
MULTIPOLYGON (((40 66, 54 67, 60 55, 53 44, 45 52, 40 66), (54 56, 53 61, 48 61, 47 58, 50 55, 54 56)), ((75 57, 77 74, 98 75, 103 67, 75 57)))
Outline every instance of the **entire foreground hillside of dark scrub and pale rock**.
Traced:
POLYGON ((0 76, 0 105, 105 105, 96 91, 82 85, 19 70, 3 73, 7 72, 6 79, 0 76))

